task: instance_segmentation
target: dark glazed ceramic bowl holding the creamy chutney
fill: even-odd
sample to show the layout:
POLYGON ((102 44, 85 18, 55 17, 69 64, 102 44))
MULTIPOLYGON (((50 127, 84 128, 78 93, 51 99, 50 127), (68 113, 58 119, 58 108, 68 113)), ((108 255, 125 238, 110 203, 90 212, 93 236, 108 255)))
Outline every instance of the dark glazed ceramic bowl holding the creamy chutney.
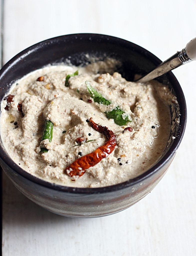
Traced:
MULTIPOLYGON (((146 74, 161 61, 131 42, 99 34, 74 34, 42 41, 20 52, 0 71, 0 100, 11 84, 25 74, 49 63, 69 59, 73 65, 89 62, 86 54, 99 59, 106 56, 122 62, 117 70, 127 80, 134 74, 146 74)), ((104 188, 72 188, 48 183, 25 172, 6 153, 0 141, 0 164, 14 185, 30 200, 59 215, 101 217, 124 210, 146 196, 166 173, 181 142, 186 126, 186 102, 182 89, 171 72, 157 79, 167 84, 180 105, 180 125, 171 136, 176 139, 162 158, 144 174, 127 182, 104 188)))

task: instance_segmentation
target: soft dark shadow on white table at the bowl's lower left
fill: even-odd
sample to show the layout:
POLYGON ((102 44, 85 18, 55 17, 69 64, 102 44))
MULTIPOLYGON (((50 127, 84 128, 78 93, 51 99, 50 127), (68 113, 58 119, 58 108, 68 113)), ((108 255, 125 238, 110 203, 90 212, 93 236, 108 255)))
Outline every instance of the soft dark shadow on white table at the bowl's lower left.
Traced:
POLYGON ((3 222, 12 225, 72 223, 76 219, 49 212, 26 198, 3 173, 3 222))

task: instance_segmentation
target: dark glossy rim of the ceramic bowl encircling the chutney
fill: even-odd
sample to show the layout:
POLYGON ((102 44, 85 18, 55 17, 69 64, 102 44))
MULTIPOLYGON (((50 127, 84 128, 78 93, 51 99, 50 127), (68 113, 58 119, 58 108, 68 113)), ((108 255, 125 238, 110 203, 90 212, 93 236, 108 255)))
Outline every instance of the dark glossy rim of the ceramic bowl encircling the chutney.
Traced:
MULTIPOLYGON (((40 42, 24 49, 23 51, 19 52, 17 55, 15 55, 12 59, 10 59, 2 67, 2 69, 0 70, 0 80, 6 74, 6 72, 9 71, 11 66, 13 66, 15 63, 17 63, 18 60, 21 60, 22 58, 24 58, 26 55, 30 54, 31 52, 34 52, 37 48, 39 48, 40 45, 43 45, 46 43, 48 44, 48 43, 51 43, 52 41, 56 42, 58 40, 62 40, 63 38, 66 39, 69 37, 70 38, 74 37, 75 39, 77 39, 76 37, 79 37, 79 36, 82 36, 83 38, 84 37, 100 37, 102 39, 107 38, 107 40, 115 40, 118 43, 123 43, 125 45, 128 45, 129 48, 131 46, 134 47, 134 50, 138 51, 140 54, 141 54, 141 52, 143 52, 143 54, 146 55, 146 57, 148 57, 153 63, 160 64, 162 62, 158 57, 156 57, 150 51, 146 50, 145 48, 143 48, 137 44, 134 44, 133 42, 130 42, 130 41, 122 39, 122 38, 104 35, 104 34, 96 34, 96 33, 68 34, 68 35, 52 37, 52 38, 40 41, 40 42)), ((9 168, 11 168, 14 172, 16 172, 17 174, 21 175, 22 177, 30 180, 33 183, 36 183, 42 187, 46 187, 49 189, 54 189, 54 190, 61 191, 61 192, 68 192, 68 193, 72 193, 72 194, 103 194, 106 192, 120 191, 127 187, 132 187, 138 183, 142 183, 145 179, 149 178, 154 173, 156 173, 160 168, 162 168, 173 157, 173 155, 175 155, 175 153, 181 143, 181 140, 183 138, 185 127, 186 127, 187 108, 186 108, 186 101, 184 98, 182 88, 181 88, 178 80, 176 79, 176 77, 174 76, 174 74, 171 71, 169 71, 166 74, 166 76, 168 77, 168 80, 170 80, 171 84, 175 84, 178 87, 178 94, 180 95, 180 98, 181 98, 181 105, 179 104, 180 115, 181 115, 180 124, 179 124, 179 128, 178 128, 179 134, 175 138, 175 140, 173 140, 172 145, 170 146, 168 151, 165 153, 165 155, 163 157, 161 157, 157 161, 157 163, 155 163, 153 166, 151 166, 150 169, 148 169, 143 174, 140 174, 137 177, 135 177, 133 179, 129 179, 125 182, 118 183, 118 184, 111 185, 111 186, 106 186, 106 187, 97 187, 97 188, 68 187, 68 186, 63 186, 63 185, 50 183, 48 181, 42 180, 42 179, 26 172, 22 168, 20 168, 10 158, 9 154, 6 153, 6 150, 4 149, 4 146, 3 146, 3 142, 0 143, 0 157, 1 157, 2 161, 5 162, 5 164, 7 166, 9 166, 9 168), (5 157, 5 156, 8 156, 8 157, 5 157)))

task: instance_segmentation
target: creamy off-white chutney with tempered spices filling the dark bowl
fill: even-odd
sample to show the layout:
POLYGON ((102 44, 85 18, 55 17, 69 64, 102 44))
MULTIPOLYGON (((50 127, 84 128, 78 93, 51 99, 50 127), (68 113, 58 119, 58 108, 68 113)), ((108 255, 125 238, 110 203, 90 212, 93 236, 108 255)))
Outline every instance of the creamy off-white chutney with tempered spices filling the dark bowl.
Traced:
POLYGON ((169 140, 169 106, 177 104, 176 97, 156 81, 141 84, 117 72, 97 73, 109 64, 48 66, 13 84, 1 103, 1 136, 17 165, 51 183, 94 188, 134 178, 158 161, 169 140), (110 103, 97 102, 88 85, 110 103), (118 124, 107 115, 116 109, 118 124), (116 145, 82 176, 70 177, 67 167, 107 142, 90 118, 114 133, 116 145), (47 121, 51 141, 43 136, 47 121))

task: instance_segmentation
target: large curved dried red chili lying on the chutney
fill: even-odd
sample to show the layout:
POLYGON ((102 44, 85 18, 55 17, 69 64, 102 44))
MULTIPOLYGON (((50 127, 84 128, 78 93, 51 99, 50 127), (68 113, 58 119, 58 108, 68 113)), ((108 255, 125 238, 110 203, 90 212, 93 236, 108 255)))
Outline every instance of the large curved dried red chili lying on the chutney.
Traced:
POLYGON ((103 133, 106 136, 107 142, 103 146, 98 147, 92 153, 82 156, 70 164, 64 170, 64 173, 67 173, 70 177, 81 177, 86 172, 86 169, 98 164, 103 158, 111 154, 116 146, 115 135, 111 130, 106 126, 101 126, 93 122, 92 117, 89 119, 89 122, 94 130, 103 133))

